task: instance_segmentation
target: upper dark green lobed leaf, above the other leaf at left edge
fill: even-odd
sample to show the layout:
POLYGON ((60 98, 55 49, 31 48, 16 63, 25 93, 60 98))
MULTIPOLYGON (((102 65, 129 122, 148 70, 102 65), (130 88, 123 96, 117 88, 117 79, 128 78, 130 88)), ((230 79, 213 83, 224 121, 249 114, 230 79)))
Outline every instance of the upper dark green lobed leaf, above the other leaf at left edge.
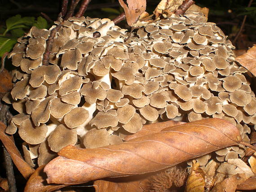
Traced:
POLYGON ((5 35, 8 31, 16 28, 24 28, 27 26, 32 26, 35 22, 35 17, 21 17, 20 15, 15 15, 6 20, 6 30, 5 35))

